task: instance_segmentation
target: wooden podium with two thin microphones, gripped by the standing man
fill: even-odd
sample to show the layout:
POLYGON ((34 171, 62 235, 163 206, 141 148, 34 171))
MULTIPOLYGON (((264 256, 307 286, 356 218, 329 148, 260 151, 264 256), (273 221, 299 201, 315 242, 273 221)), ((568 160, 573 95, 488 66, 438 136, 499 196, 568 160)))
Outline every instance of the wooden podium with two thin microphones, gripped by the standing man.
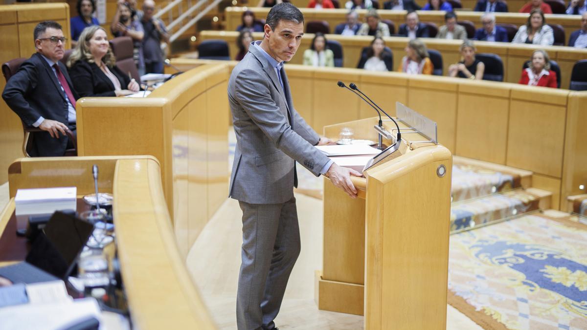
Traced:
MULTIPOLYGON (((324 134, 335 137, 351 127, 355 139, 376 141, 377 121, 326 126, 324 134)), ((396 135, 393 122, 383 126, 396 135)), ((399 126, 399 156, 353 179, 362 190, 359 198, 350 199, 325 179, 316 303, 365 315, 365 329, 446 329, 452 156, 408 120, 399 126)))

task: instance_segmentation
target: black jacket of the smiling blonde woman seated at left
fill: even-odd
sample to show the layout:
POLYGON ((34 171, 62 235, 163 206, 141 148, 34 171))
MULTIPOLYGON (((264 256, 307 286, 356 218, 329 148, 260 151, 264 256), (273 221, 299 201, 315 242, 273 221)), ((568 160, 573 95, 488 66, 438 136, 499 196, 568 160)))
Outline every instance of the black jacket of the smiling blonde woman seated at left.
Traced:
MULTIPOLYGON (((130 83, 130 78, 124 75, 119 68, 109 68, 110 72, 120 82, 122 89, 127 89, 130 83)), ((85 60, 79 60, 69 69, 73 81, 75 81, 75 89, 81 97, 86 96, 116 96, 114 93, 114 84, 102 72, 96 63, 89 63, 85 60)))

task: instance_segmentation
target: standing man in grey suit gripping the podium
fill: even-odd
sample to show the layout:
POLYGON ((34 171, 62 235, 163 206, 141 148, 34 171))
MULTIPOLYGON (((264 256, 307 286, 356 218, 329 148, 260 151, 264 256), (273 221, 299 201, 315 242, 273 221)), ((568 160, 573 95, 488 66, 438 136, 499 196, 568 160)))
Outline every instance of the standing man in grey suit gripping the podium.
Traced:
POLYGON ((238 329, 275 329, 289 274, 300 251, 294 187, 295 161, 314 175, 325 174, 350 197, 354 170, 329 160, 320 137, 294 108, 284 61, 303 35, 303 15, 294 5, 273 6, 264 39, 249 46, 228 82, 237 136, 230 197, 242 210, 242 264, 238 278, 238 329))

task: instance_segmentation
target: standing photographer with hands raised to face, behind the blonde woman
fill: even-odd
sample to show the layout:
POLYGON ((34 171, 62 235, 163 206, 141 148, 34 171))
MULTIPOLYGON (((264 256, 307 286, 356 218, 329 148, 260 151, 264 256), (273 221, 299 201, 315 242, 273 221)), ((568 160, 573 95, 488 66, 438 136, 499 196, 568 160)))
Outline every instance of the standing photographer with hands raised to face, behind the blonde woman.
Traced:
POLYGON ((139 75, 145 73, 145 62, 143 57, 143 37, 144 30, 143 25, 136 18, 136 12, 130 8, 129 2, 118 4, 118 16, 120 17, 119 22, 112 22, 110 31, 112 35, 116 36, 130 36, 133 38, 133 58, 134 64, 139 69, 139 75))

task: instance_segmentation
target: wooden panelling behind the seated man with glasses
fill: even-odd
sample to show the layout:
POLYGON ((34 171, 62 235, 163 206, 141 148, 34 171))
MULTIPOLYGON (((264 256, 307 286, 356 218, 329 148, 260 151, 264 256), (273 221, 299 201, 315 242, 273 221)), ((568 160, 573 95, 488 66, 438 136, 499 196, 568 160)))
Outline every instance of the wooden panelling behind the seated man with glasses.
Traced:
MULTIPOLYGON (((63 26, 63 34, 69 33, 69 5, 35 3, 0 5, 0 65, 15 58, 29 58, 35 52, 33 29, 41 21, 53 19, 63 26)), ((69 48, 69 41, 66 49, 69 48)), ((0 78, 0 91, 6 80, 0 78)), ((21 119, 12 112, 4 100, 0 100, 0 183, 8 180, 8 166, 22 157, 21 119)))

